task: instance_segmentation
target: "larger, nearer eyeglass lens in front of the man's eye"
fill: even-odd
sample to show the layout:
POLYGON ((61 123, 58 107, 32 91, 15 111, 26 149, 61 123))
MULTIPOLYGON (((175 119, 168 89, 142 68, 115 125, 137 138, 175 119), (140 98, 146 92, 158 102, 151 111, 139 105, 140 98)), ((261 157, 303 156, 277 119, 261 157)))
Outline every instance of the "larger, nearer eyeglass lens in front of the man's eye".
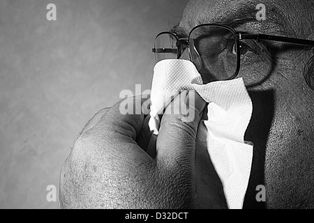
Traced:
POLYGON ((237 71, 234 33, 220 26, 199 26, 190 33, 190 56, 210 81, 230 79, 237 71))

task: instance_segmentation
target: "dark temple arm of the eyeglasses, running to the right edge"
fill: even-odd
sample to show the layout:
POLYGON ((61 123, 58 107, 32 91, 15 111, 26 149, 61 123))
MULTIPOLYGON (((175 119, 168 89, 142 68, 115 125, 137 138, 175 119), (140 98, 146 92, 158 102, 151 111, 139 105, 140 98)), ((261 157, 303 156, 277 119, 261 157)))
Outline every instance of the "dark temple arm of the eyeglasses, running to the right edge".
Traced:
POLYGON ((289 37, 283 37, 283 36, 270 36, 270 35, 264 35, 264 34, 248 34, 248 33, 237 33, 236 38, 238 40, 274 40, 279 42, 285 42, 285 43, 297 43, 301 45, 310 45, 314 46, 313 40, 302 40, 297 38, 289 38, 289 37))

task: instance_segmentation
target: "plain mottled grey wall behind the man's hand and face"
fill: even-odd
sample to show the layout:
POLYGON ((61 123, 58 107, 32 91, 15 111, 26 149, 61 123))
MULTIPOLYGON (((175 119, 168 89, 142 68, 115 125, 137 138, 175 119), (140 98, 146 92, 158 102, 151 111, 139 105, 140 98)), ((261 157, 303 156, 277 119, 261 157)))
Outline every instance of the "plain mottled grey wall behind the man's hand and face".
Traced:
POLYGON ((0 0, 0 208, 57 208, 46 188, 76 135, 121 90, 150 88, 154 37, 186 3, 0 0))

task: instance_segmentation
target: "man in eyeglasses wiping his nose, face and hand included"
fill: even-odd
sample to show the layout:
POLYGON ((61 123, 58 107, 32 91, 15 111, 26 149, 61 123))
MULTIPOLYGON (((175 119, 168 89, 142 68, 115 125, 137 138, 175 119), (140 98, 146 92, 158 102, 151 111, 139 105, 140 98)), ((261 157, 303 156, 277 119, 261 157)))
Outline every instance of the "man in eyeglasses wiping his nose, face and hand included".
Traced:
MULTIPOLYGON (((243 40, 226 41, 223 49, 240 58, 231 74, 244 79, 253 102, 245 134, 254 151, 244 208, 314 208, 314 44, 306 41, 314 40, 314 3, 265 0, 265 20, 257 20, 259 3, 192 0, 172 33, 186 41, 195 26, 223 24, 244 36, 263 34, 258 40, 234 34, 243 40), (257 185, 266 187, 266 202, 257 201, 257 185)), ((215 54, 207 54, 202 41, 194 44, 198 54, 182 47, 180 58, 196 67, 203 63, 204 83, 220 80, 216 67, 204 64, 206 55, 215 54)), ((156 157, 142 149, 150 136, 148 116, 122 115, 119 103, 100 110, 77 139, 61 170, 61 208, 227 207, 206 148, 197 145, 206 105, 200 95, 192 122, 181 121, 180 114, 163 116, 156 157)))

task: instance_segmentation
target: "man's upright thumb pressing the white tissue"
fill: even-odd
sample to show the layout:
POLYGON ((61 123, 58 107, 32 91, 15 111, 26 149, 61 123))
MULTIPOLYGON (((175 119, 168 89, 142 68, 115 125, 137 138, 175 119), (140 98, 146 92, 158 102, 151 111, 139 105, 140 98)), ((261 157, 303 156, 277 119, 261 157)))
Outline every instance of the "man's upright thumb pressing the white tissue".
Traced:
POLYGON ((197 128, 206 102, 196 91, 180 93, 165 109, 156 142, 156 159, 194 164, 197 128))

